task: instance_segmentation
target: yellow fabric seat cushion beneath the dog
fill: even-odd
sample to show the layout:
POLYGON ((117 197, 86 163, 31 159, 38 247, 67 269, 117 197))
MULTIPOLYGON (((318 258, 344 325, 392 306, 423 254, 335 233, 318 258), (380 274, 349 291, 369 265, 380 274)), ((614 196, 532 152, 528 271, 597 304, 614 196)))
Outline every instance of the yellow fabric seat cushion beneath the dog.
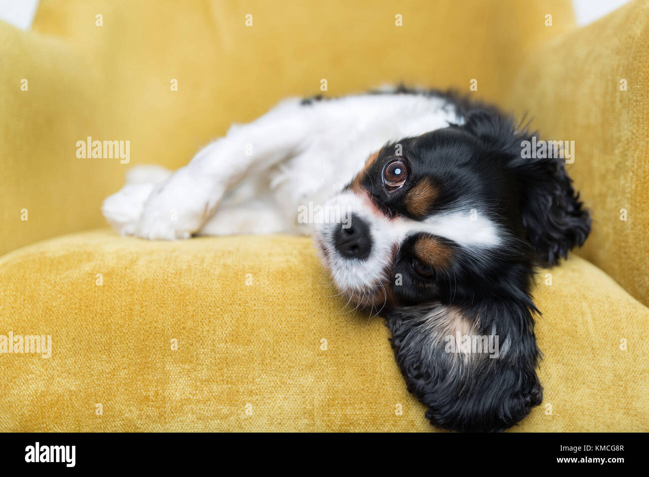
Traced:
MULTIPOLYGON (((538 278, 545 395, 515 430, 649 430, 649 310, 577 256, 538 278)), ((329 280, 286 236, 10 252, 0 334, 51 335, 52 356, 0 354, 0 431, 432 430, 386 326, 329 280)))

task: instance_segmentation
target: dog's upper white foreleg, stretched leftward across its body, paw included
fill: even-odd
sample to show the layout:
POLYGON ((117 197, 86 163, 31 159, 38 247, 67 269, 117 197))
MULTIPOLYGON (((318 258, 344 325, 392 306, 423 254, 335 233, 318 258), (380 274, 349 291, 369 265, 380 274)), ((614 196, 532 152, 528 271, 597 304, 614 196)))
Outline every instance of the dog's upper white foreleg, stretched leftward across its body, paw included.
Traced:
POLYGON ((252 123, 234 126, 202 149, 190 164, 158 184, 144 204, 135 235, 189 238, 212 216, 223 193, 252 171, 293 156, 308 136, 298 100, 276 106, 252 123))

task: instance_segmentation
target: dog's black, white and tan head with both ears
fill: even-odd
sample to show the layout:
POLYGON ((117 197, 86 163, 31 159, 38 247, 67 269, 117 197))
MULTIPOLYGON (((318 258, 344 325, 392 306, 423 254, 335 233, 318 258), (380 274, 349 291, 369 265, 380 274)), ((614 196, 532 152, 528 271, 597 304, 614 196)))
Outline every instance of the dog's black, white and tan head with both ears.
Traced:
POLYGON ((411 391, 448 428, 503 428, 539 404, 533 267, 553 265, 590 230, 565 160, 521 154, 530 136, 478 110, 462 125, 389 143, 326 204, 344 219, 315 230, 341 293, 391 310, 411 391), (448 352, 449 336, 496 337, 509 371, 490 375, 486 356, 448 352), (507 396, 497 391, 508 386, 507 396), (460 406, 469 388, 480 402, 460 406))

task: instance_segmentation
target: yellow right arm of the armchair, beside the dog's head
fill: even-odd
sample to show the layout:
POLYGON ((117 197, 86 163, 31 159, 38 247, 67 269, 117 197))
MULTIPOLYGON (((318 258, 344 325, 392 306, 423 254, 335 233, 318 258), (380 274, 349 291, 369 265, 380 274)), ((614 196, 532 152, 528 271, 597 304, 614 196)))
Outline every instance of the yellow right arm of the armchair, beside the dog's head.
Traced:
POLYGON ((649 2, 636 0, 531 53, 508 104, 543 138, 574 141, 567 166, 593 212, 580 252, 649 304, 649 2), (620 88, 625 87, 626 91, 620 88), (626 220, 624 219, 626 216, 626 220))

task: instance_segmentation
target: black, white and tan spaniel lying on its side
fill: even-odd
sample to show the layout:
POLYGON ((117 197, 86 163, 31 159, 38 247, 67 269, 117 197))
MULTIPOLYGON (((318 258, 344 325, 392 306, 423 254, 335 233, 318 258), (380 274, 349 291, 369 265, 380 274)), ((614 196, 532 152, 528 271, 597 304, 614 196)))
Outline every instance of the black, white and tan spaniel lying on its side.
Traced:
POLYGON ((543 398, 535 269, 591 230, 565 160, 521 154, 532 136, 449 92, 289 99, 173 174, 132 169, 103 214, 145 239, 310 234, 348 302, 387 313, 432 424, 498 432, 543 398))

